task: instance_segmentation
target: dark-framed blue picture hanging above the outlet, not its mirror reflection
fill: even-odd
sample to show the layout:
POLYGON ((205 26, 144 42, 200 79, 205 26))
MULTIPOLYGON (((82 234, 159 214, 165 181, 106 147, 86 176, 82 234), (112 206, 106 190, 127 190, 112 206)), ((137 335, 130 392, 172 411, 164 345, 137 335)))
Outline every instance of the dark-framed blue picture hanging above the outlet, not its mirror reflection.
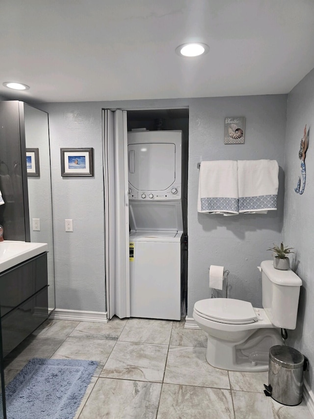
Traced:
POLYGON ((61 148, 61 176, 93 176, 93 148, 61 148))

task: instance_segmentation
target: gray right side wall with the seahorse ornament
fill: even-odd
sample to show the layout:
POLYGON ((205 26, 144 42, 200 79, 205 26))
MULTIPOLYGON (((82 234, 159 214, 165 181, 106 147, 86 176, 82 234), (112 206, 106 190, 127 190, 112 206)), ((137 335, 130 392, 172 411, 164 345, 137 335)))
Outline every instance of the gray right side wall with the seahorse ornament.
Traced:
POLYGON ((284 240, 295 248, 293 268, 303 281, 301 288, 297 328, 289 333, 288 343, 299 349, 310 360, 307 381, 314 391, 314 70, 312 70, 288 95, 287 131, 285 148, 285 217, 284 240), (303 195, 296 194, 294 188, 301 175, 298 158, 300 140, 305 125, 310 129, 309 148, 306 154, 306 187, 303 195))

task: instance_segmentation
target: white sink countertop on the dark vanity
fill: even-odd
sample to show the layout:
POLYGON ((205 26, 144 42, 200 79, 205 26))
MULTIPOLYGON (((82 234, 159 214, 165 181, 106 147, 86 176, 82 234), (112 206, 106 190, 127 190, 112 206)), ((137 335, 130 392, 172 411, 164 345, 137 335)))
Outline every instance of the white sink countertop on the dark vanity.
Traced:
POLYGON ((0 272, 48 251, 47 243, 29 243, 14 240, 0 242, 0 272))

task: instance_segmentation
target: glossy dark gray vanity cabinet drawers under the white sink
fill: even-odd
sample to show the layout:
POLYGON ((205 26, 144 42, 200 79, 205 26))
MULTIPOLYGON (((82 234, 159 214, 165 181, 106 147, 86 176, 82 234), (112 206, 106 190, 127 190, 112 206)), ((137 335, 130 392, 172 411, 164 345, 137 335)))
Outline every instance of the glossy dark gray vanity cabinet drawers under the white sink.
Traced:
POLYGON ((5 357, 48 318, 47 252, 0 274, 5 357))

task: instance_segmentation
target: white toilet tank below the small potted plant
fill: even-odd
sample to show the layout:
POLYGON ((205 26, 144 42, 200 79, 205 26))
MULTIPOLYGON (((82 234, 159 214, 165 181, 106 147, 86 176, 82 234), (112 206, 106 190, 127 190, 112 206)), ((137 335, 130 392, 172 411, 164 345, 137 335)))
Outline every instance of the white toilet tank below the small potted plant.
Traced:
POLYGON ((291 269, 281 271, 272 260, 264 260, 262 269, 262 306, 271 323, 283 329, 295 329, 302 280, 291 269))

